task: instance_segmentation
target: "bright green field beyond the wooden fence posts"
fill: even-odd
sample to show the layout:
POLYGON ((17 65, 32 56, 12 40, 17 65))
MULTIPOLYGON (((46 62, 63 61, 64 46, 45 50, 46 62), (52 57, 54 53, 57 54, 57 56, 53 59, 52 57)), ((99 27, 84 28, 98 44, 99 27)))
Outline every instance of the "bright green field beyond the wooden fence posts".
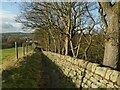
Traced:
MULTIPOLYGON (((22 53, 22 47, 18 48, 18 55, 22 53)), ((2 62, 15 57, 15 48, 2 49, 2 62)))

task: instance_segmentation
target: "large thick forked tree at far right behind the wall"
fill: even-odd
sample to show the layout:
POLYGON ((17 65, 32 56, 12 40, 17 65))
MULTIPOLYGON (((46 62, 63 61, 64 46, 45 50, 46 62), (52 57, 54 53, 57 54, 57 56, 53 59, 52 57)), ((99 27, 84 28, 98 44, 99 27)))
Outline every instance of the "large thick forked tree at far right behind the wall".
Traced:
POLYGON ((103 64, 120 70, 120 1, 99 2, 99 5, 101 18, 107 30, 103 64))

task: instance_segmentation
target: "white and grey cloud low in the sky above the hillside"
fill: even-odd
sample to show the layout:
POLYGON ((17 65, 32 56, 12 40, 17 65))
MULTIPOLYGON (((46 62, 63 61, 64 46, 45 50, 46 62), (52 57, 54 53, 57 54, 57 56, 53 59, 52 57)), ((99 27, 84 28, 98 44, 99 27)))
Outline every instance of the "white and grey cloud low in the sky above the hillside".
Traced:
POLYGON ((0 12, 0 18, 2 19, 2 23, 0 23, 2 33, 22 31, 21 24, 15 21, 16 15, 12 12, 2 11, 0 12))

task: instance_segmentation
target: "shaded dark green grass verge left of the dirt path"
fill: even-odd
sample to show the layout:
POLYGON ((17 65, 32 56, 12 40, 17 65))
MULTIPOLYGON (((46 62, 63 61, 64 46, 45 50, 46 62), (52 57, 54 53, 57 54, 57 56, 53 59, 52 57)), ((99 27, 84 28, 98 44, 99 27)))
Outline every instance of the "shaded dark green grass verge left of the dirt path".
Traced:
POLYGON ((38 88, 42 87, 42 65, 40 56, 33 54, 19 63, 19 67, 2 72, 3 88, 38 88))

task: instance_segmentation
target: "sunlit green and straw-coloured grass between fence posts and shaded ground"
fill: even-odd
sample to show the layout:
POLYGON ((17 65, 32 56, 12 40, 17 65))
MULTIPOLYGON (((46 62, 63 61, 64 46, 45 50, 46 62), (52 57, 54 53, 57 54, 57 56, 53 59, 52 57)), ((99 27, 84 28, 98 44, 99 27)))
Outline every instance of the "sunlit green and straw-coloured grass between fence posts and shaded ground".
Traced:
MULTIPOLYGON (((8 69, 12 66, 14 66, 14 64, 17 62, 17 59, 15 57, 15 48, 9 48, 9 49, 2 49, 2 61, 0 63, 0 68, 2 68, 3 70, 8 69)), ((29 52, 26 55, 29 55, 30 53, 32 53, 32 49, 29 49, 29 52)), ((18 58, 19 60, 21 60, 20 58, 23 58, 22 55, 22 47, 18 48, 18 58)), ((0 58, 1 58, 0 57, 0 58)))

